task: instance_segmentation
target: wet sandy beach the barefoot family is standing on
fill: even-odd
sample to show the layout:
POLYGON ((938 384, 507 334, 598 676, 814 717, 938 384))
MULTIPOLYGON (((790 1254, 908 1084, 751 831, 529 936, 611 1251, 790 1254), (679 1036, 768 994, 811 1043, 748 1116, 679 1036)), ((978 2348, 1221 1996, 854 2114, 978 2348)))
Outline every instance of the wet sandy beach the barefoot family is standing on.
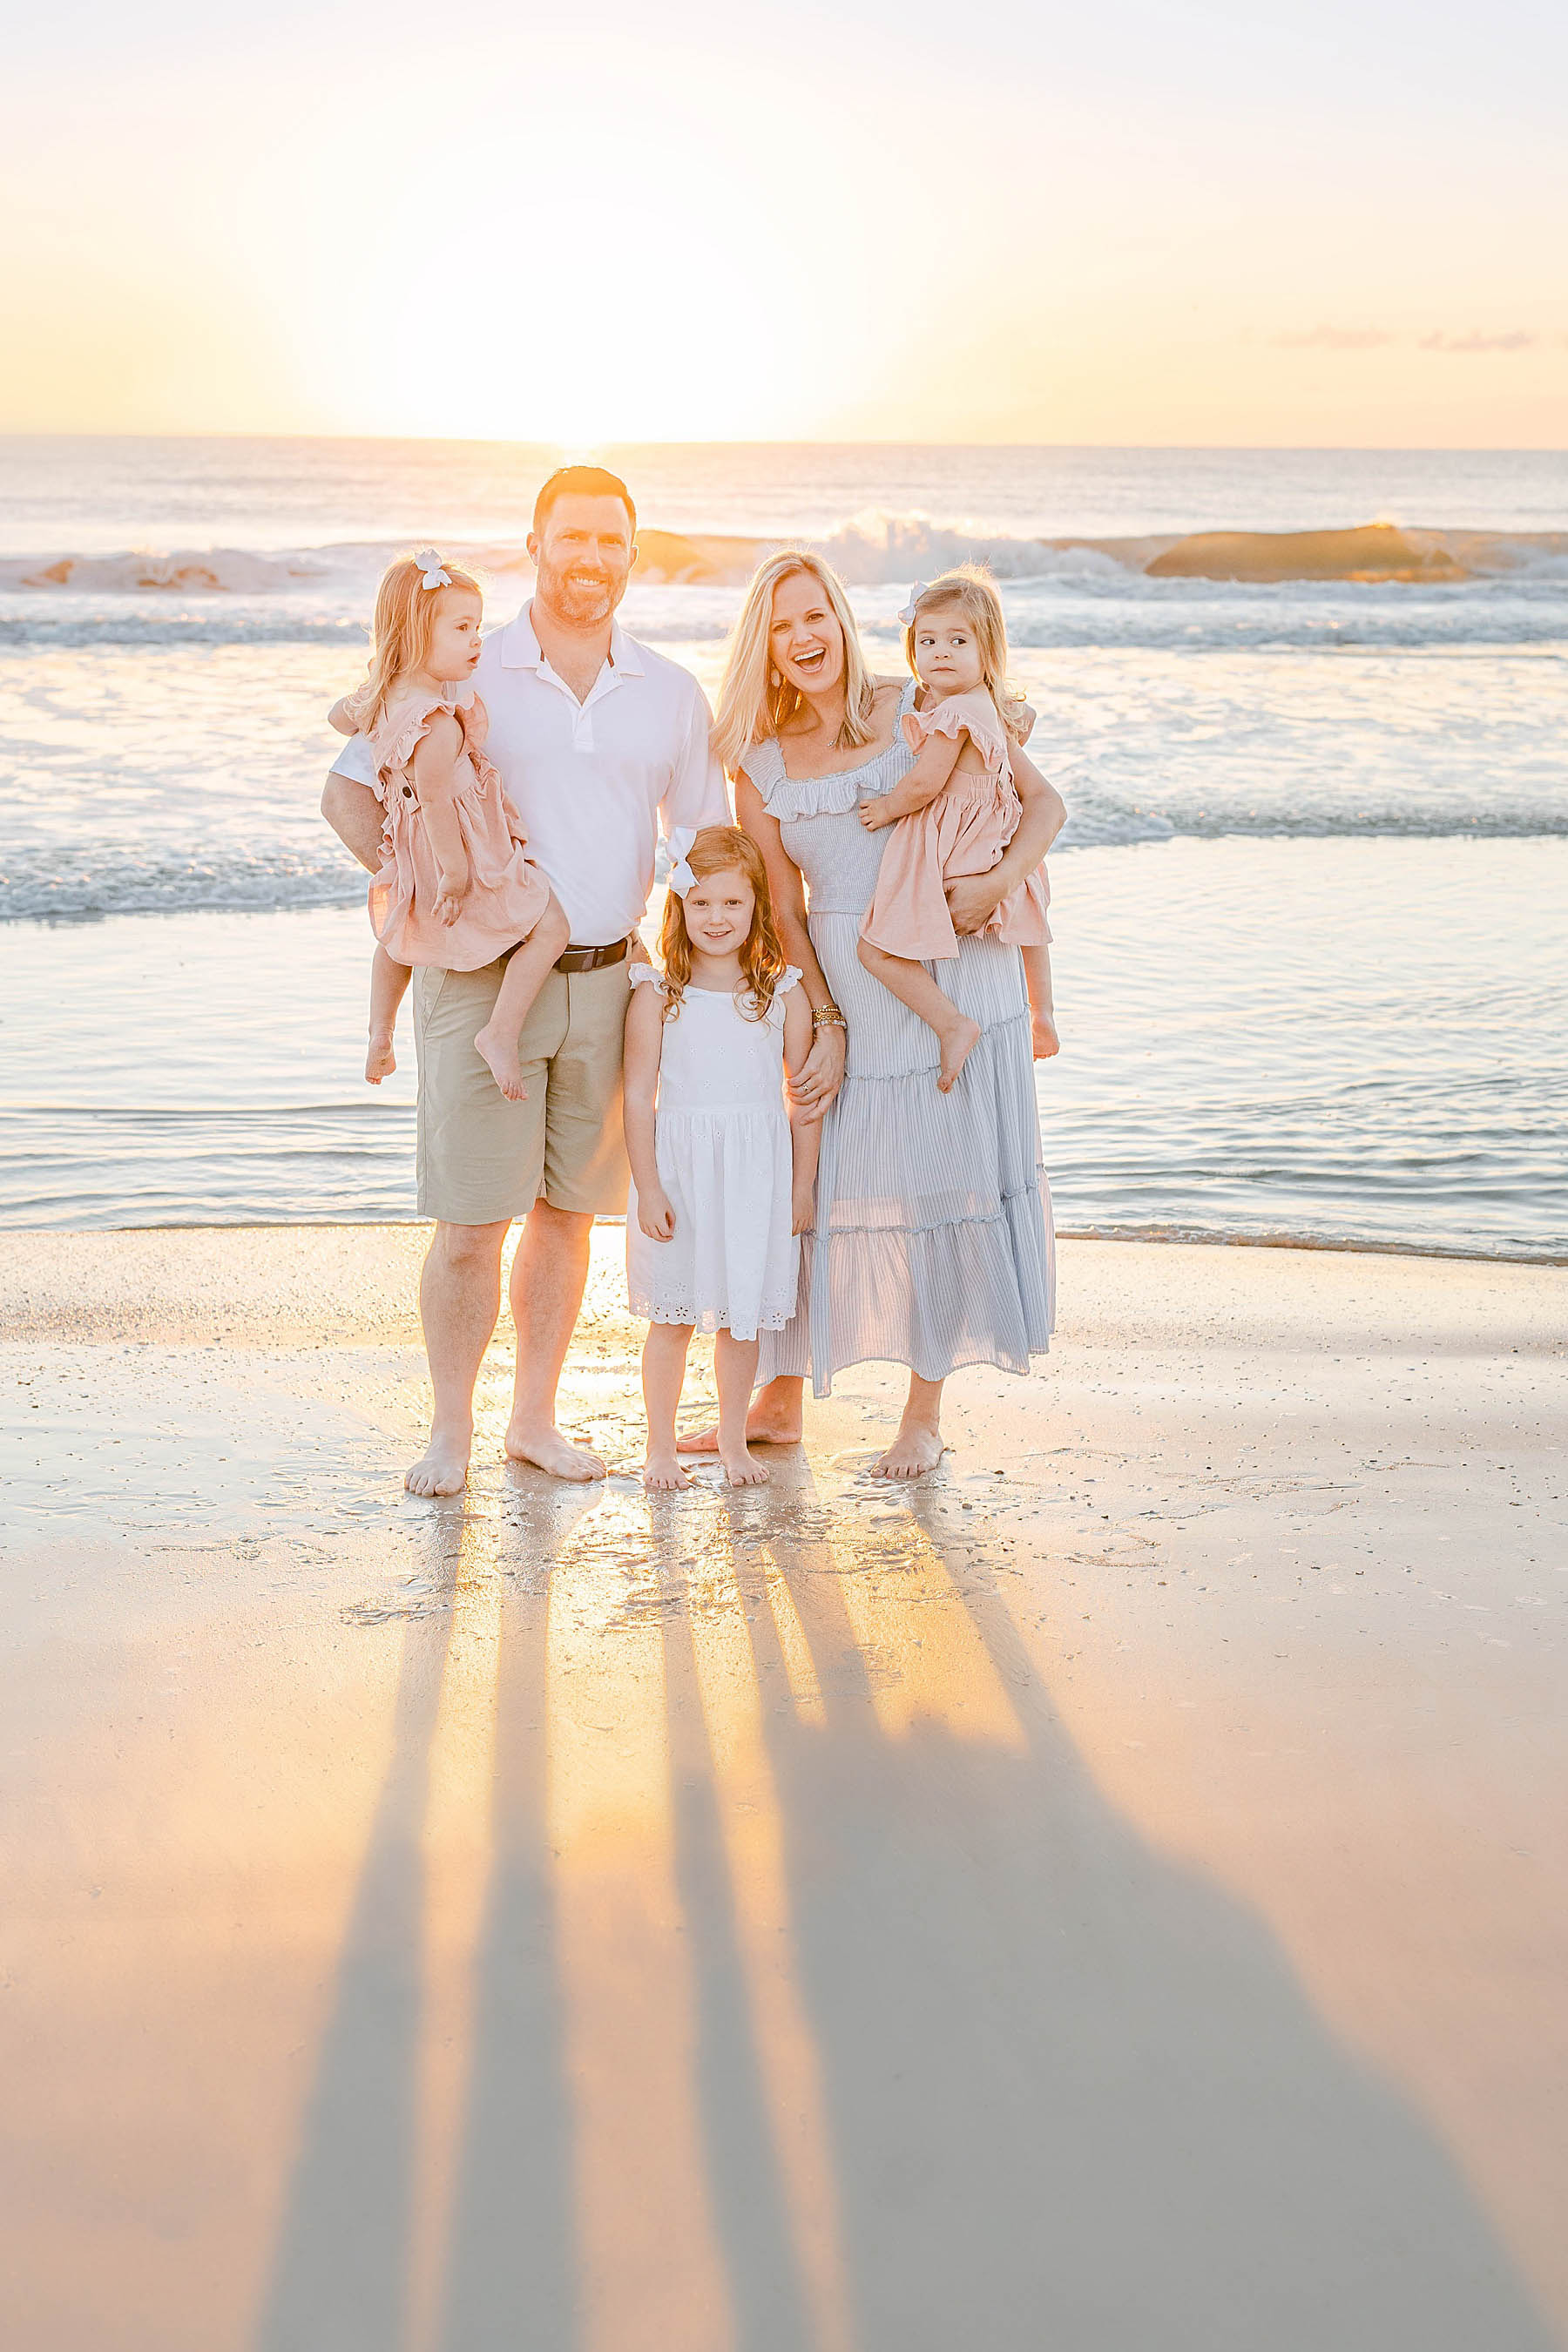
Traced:
POLYGON ((416 1230, 0 1242, 7 2343, 1568 2343, 1568 1270, 1065 1244, 665 1501, 597 1240, 447 1505, 416 1230))

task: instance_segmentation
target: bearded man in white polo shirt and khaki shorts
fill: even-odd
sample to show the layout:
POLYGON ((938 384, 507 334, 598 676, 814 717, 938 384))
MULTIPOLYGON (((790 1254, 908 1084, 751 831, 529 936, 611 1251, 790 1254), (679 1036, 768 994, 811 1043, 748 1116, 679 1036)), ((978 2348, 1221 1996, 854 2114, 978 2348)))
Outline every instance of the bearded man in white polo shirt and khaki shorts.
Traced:
MULTIPOLYGON (((501 1247, 512 1258, 517 1383, 505 1451, 567 1479, 604 1477, 555 1425, 555 1390, 583 1305, 595 1216, 628 1195, 621 1030, 628 946, 654 887, 658 826, 729 823, 710 710, 689 670, 628 637, 616 604, 637 557, 637 508, 614 473, 562 466, 538 492, 534 597, 484 640, 475 687, 487 753, 522 814, 529 856, 567 910, 571 946, 522 1028, 529 1089, 510 1103, 475 1035, 503 964, 414 974, 418 1040, 418 1209, 435 1237, 418 1287, 435 1411, 411 1494, 458 1494, 473 1390, 501 1312, 501 1247)), ((364 868, 381 856, 367 743, 339 755, 322 816, 364 868)))

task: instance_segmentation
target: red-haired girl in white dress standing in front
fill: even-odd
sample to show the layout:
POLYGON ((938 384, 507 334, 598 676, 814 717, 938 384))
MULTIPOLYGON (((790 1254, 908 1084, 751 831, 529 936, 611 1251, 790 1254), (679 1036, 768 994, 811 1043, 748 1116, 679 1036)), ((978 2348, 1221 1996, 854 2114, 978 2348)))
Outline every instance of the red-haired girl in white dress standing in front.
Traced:
POLYGON ((785 1112, 783 1073, 811 1051, 811 1007, 785 964, 762 854, 738 826, 670 835, 663 974, 632 964, 625 1016, 625 1287, 646 1315, 644 1486, 686 1486, 675 1414, 693 1329, 715 1334, 719 1461, 745 1446, 757 1334, 795 1315, 820 1129, 785 1112))

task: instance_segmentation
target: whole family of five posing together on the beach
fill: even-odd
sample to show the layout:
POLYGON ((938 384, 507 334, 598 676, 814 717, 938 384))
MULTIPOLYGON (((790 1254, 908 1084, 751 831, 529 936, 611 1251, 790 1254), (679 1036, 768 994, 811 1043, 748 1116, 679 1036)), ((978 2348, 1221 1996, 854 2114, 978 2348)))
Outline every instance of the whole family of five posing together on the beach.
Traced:
POLYGON ((407 1486, 468 1477, 512 1218, 505 1451, 604 1475, 555 1392, 592 1218, 621 1214, 649 1486, 701 1451, 766 1479, 750 1446, 799 1439, 806 1376, 823 1397, 867 1359, 910 1371, 877 1472, 917 1477, 943 1381, 1027 1371, 1053 1319, 1032 1061, 1056 1051, 1041 861, 1065 809, 1023 753, 999 597, 973 569, 917 583, 910 675, 877 677, 832 569, 771 555, 715 717, 616 621, 637 555, 616 475, 550 475, 529 555, 534 595, 489 637, 465 572, 393 564, 369 675, 331 710, 350 741, 322 814, 371 875, 371 1082, 414 981, 435 1409, 407 1486), (719 1421, 677 1437, 693 1329, 719 1421))

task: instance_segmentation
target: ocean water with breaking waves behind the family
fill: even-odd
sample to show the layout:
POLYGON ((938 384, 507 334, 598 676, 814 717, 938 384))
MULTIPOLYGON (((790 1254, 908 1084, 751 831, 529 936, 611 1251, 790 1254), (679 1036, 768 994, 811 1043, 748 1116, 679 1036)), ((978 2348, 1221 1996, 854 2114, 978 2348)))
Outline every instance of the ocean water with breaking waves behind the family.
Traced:
MULTIPOLYGON (((409 543, 510 616, 555 456, 0 442, 0 1223, 411 1214, 324 708, 409 543)), ((1568 1256, 1566 454, 611 463, 701 557, 661 543, 625 621, 710 691, 762 546, 823 546, 886 668, 912 576, 994 567, 1072 811, 1039 1070, 1067 1230, 1568 1256), (1147 569, 1368 522, 1408 576, 1345 576, 1352 541, 1309 581, 1147 569)))

